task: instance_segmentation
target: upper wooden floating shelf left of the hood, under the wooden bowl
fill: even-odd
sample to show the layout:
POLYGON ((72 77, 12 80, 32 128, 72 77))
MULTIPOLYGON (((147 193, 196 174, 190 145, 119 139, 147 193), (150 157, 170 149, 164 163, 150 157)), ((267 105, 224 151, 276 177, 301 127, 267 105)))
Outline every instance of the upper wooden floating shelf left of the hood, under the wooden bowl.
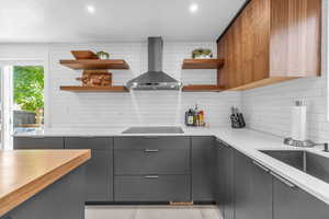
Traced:
POLYGON ((60 60, 59 64, 73 70, 129 69, 129 65, 123 59, 60 60))

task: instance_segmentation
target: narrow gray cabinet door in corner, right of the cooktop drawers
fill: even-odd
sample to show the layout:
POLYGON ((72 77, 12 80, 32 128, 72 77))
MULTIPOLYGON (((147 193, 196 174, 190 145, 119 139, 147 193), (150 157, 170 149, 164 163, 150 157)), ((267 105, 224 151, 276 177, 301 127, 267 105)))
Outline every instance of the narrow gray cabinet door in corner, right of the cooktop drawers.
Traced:
POLYGON ((215 200, 215 139, 192 137, 192 199, 215 200))

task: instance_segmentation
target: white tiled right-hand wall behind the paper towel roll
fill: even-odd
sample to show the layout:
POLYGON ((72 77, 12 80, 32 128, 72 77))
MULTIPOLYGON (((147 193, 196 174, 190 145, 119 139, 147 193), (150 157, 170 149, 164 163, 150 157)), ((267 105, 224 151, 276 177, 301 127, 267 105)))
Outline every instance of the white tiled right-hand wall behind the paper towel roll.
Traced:
POLYGON ((328 141, 326 84, 326 77, 304 78, 245 91, 242 93, 242 108, 248 127, 290 137, 292 105, 296 100, 304 100, 308 111, 309 139, 328 141))

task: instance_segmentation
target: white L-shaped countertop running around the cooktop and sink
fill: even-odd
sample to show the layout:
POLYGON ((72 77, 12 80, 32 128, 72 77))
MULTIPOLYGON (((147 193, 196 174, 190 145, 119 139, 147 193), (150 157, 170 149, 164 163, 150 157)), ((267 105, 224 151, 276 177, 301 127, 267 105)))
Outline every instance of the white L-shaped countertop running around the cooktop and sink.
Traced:
MULTIPOLYGON (((52 130, 46 132, 18 134, 24 137, 56 137, 56 136, 152 136, 152 134, 122 134, 126 128, 95 129, 93 131, 79 130, 52 130)), ((184 134, 154 134, 154 136, 215 136, 225 141, 236 150, 262 164, 270 171, 290 181, 297 187, 314 195, 329 205, 329 184, 318 180, 298 169, 271 158, 259 150, 302 150, 283 143, 282 137, 272 136, 250 129, 230 128, 183 128, 184 134)), ((329 159, 329 153, 322 152, 319 148, 305 149, 329 159)))

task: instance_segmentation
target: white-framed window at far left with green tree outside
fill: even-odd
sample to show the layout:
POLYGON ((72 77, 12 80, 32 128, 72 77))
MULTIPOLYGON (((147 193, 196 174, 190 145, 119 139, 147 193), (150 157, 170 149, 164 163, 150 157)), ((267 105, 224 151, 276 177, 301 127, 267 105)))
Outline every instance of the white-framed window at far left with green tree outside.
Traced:
POLYGON ((12 149, 12 134, 44 127, 44 67, 5 65, 1 72, 1 147, 12 149))

